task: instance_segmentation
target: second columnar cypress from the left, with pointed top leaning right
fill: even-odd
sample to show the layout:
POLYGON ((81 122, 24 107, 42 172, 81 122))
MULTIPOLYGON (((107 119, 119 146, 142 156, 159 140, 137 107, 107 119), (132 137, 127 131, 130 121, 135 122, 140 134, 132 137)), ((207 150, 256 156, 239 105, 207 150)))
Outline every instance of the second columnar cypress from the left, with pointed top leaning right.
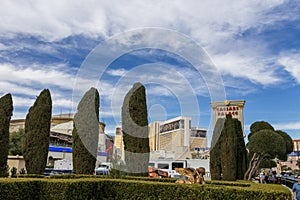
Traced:
POLYGON ((43 174, 48 156, 52 100, 44 89, 30 107, 25 119, 23 156, 28 174, 43 174))

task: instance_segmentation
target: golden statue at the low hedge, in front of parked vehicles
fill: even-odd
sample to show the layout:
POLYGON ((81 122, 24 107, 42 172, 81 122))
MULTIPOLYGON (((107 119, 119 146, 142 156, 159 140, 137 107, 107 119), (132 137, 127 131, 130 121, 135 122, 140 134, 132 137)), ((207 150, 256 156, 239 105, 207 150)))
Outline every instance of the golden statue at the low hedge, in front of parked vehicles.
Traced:
POLYGON ((197 169, 194 168, 175 168, 175 171, 183 176, 188 177, 188 180, 178 179, 175 183, 183 183, 183 184, 205 184, 204 175, 205 168, 199 167, 197 169))

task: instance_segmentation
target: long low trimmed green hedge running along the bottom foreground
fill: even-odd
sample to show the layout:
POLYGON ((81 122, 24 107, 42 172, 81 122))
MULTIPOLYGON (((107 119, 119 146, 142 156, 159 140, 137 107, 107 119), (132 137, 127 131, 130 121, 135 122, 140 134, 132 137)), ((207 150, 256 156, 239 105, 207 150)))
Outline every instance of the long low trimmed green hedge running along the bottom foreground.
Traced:
MULTIPOLYGON (((226 183, 226 182, 224 182, 226 183)), ((243 183, 242 183, 243 184, 243 183)), ((247 183, 248 184, 248 183, 247 183)), ((0 179, 0 199, 291 199, 281 185, 185 185, 124 179, 0 179)))

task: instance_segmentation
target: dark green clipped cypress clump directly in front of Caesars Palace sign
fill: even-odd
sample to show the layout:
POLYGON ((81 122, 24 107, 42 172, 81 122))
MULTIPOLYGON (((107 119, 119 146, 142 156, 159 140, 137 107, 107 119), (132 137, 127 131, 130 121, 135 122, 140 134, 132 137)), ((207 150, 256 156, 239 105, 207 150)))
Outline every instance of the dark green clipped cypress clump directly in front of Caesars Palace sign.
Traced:
POLYGON ((221 135, 210 157, 212 179, 220 179, 221 173, 223 180, 243 179, 247 167, 247 152, 239 120, 233 119, 231 115, 226 116, 221 135), (212 169, 215 167, 218 171, 212 169))

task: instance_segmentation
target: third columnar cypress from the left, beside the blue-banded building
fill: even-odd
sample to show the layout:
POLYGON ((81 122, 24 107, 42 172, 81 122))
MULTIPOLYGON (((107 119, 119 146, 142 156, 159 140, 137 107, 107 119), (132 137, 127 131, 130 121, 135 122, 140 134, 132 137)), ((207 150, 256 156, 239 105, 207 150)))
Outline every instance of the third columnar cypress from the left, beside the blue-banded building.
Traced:
POLYGON ((82 97, 72 132, 73 169, 76 174, 95 170, 99 137, 99 93, 91 88, 82 97))

